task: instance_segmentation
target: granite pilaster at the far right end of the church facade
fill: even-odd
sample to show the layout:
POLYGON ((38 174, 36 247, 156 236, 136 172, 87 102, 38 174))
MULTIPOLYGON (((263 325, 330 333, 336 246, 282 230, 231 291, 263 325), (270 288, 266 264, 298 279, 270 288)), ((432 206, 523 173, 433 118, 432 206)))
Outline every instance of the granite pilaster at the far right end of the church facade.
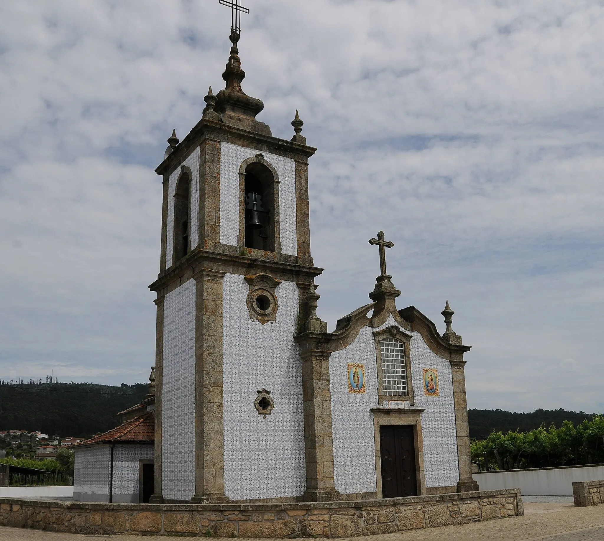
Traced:
POLYGON ((458 492, 478 490, 478 483, 472 479, 470 432, 467 424, 466 376, 463 370, 465 364, 466 362, 462 359, 451 360, 455 430, 457 432, 457 459, 459 464, 458 492))

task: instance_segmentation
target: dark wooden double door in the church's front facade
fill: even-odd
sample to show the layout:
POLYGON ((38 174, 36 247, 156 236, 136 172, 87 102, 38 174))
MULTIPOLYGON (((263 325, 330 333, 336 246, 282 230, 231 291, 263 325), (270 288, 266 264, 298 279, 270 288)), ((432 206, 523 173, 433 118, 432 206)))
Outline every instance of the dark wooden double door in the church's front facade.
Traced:
POLYGON ((417 496, 413 426, 380 426, 382 498, 417 496))

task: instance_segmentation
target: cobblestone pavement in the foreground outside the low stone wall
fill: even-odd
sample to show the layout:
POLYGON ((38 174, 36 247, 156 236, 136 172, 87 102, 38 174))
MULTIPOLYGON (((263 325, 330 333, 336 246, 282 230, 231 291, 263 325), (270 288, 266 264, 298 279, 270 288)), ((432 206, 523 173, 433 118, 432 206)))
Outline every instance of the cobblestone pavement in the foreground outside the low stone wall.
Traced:
MULTIPOLYGON (((510 517, 504 520, 354 539, 358 541, 434 541, 435 538, 446 539, 446 541, 604 541, 604 505, 574 507, 564 502, 526 502, 524 513, 523 517, 510 517)), ((86 539, 115 539, 115 537, 58 534, 0 526, 0 541, 85 541, 86 539)), ((175 541, 177 538, 153 536, 148 539, 149 541, 175 541)))

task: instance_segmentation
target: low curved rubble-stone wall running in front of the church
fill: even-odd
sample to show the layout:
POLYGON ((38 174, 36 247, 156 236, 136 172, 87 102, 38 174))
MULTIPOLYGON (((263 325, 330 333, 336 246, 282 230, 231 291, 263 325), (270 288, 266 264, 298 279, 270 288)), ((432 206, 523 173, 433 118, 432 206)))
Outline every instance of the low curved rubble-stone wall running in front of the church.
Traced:
POLYGON ((524 514, 520 491, 296 504, 97 504, 0 498, 0 524, 82 533, 357 537, 524 514))

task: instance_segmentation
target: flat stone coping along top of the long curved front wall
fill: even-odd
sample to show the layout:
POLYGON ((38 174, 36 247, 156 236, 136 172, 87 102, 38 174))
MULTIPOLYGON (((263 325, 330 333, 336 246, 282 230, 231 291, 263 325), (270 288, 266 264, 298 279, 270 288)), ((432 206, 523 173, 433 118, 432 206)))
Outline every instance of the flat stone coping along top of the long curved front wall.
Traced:
POLYGON ((324 510, 350 509, 354 507, 371 508, 394 505, 421 505, 426 502, 452 502, 468 498, 498 498, 515 495, 521 498, 519 488, 502 490, 482 490, 473 492, 451 492, 426 496, 408 496, 406 498, 382 498, 369 500, 349 500, 337 502, 292 502, 284 504, 109 504, 103 502, 75 502, 44 498, 0 498, 0 504, 47 505, 54 508, 90 509, 90 510, 136 510, 136 511, 289 511, 289 510, 324 510))

